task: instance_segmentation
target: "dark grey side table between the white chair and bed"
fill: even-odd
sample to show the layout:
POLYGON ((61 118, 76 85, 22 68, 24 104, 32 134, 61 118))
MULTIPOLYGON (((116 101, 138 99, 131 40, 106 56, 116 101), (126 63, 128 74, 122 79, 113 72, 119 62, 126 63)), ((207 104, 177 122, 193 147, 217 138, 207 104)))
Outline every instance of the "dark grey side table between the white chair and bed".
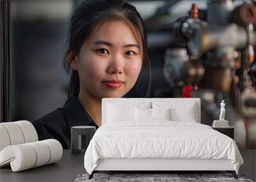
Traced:
POLYGON ((72 154, 81 153, 81 149, 82 149, 81 142, 86 142, 84 149, 87 149, 90 143, 90 140, 92 139, 95 132, 96 132, 95 126, 72 126, 71 127, 71 153, 72 154), (85 136, 85 141, 82 141, 81 135, 85 136))

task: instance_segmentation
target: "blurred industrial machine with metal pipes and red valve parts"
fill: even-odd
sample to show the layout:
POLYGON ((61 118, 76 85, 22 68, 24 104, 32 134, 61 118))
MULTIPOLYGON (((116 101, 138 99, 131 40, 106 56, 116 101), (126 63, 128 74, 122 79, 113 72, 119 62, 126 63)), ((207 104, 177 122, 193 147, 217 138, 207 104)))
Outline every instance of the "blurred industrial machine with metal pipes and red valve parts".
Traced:
MULTIPOLYGON (((161 22, 159 17, 177 2, 168 1, 147 24, 161 22)), ((178 88, 182 96, 203 98, 202 107, 213 118, 220 113, 221 100, 228 100, 235 139, 241 147, 256 149, 255 1, 234 6, 231 0, 208 0, 206 10, 192 4, 187 16, 163 22, 158 31, 170 34, 157 41, 172 45, 165 50, 163 66, 170 87, 178 88), (204 100, 209 93, 214 107, 204 100)))

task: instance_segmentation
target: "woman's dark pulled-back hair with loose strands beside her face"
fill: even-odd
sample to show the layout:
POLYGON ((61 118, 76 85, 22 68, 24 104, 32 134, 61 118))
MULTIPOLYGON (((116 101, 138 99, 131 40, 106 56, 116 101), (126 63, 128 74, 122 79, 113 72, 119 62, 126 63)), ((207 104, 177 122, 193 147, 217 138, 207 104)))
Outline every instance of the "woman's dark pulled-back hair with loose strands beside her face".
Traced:
MULTIPOLYGON (((152 75, 147 50, 146 29, 140 13, 125 0, 85 0, 74 10, 68 29, 67 49, 65 50, 63 66, 69 74, 70 63, 79 54, 84 40, 104 22, 111 20, 124 20, 130 25, 132 31, 135 31, 135 34, 138 35, 136 40, 141 44, 143 64, 149 68, 149 82, 146 94, 146 97, 148 97, 150 95, 152 75)), ((72 70, 68 86, 68 97, 72 93, 78 95, 79 89, 79 75, 77 70, 72 70)))

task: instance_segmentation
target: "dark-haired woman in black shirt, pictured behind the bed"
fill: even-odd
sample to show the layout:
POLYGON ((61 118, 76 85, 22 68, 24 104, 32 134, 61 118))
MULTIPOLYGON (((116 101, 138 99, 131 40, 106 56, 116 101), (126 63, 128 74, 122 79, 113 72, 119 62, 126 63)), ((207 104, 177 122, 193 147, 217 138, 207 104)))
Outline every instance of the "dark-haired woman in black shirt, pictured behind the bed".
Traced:
MULTIPOLYGON (((64 149, 70 149, 72 126, 101 126, 102 98, 123 97, 142 66, 150 69, 143 20, 127 1, 83 1, 72 14, 68 36, 67 102, 33 122, 40 140, 59 140, 64 149)), ((151 71, 148 92, 150 82, 151 71)))

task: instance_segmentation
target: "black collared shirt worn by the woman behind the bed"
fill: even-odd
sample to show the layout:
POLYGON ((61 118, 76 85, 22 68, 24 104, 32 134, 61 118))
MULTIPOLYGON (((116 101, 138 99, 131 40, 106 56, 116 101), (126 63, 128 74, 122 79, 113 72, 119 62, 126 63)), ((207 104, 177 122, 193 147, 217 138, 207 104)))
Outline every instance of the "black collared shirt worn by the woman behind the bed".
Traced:
POLYGON ((63 108, 53 110, 42 118, 33 121, 39 140, 56 139, 63 149, 70 149, 72 126, 96 126, 90 115, 73 93, 63 108))

